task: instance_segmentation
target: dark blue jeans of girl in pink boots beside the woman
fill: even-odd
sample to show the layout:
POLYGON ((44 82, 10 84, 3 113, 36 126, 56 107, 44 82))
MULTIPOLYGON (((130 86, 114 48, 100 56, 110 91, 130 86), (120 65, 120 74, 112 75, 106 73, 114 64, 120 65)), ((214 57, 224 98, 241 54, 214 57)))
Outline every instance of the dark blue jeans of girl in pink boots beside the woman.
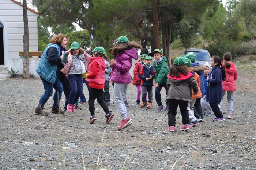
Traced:
POLYGON ((75 104, 83 92, 83 78, 81 74, 69 74, 70 94, 68 104, 75 104))

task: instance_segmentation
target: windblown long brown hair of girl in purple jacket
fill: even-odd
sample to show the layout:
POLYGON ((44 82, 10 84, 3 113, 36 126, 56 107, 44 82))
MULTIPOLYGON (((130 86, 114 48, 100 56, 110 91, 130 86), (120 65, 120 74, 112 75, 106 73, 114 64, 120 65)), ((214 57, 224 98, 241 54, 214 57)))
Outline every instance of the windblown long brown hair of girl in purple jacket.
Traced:
POLYGON ((132 49, 133 47, 143 50, 142 46, 135 41, 131 41, 129 43, 116 43, 112 48, 110 48, 109 52, 111 55, 117 55, 121 54, 124 50, 132 49))

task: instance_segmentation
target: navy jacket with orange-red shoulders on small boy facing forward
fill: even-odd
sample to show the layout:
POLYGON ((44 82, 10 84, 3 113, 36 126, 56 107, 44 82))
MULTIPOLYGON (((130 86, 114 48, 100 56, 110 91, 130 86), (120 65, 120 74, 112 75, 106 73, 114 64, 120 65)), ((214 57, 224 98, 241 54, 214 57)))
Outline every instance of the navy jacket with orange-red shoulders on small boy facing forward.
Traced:
POLYGON ((139 78, 142 80, 142 86, 153 86, 153 79, 155 78, 155 71, 153 66, 147 68, 146 64, 143 64, 139 71, 139 78), (152 76, 152 79, 146 81, 146 78, 149 78, 150 75, 152 76))

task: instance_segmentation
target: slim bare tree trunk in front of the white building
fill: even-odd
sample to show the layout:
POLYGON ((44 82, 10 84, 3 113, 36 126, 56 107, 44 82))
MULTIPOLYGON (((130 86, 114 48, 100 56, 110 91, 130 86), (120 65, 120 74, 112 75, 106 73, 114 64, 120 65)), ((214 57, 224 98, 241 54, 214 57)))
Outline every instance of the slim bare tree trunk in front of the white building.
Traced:
POLYGON ((29 79, 29 21, 27 19, 27 1, 23 0, 23 22, 24 22, 24 35, 23 35, 23 78, 29 79))

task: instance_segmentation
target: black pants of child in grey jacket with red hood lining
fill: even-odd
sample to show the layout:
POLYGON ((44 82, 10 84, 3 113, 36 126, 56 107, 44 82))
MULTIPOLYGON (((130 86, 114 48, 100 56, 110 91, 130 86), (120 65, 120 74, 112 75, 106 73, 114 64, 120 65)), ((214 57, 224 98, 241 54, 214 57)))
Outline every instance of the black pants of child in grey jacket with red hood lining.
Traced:
POLYGON ((168 125, 169 126, 175 126, 176 125, 176 114, 177 114, 177 108, 180 107, 181 117, 182 117, 182 123, 183 124, 189 124, 189 115, 188 115, 188 102, 182 101, 182 100, 173 100, 168 99, 169 102, 169 110, 168 110, 168 125))

